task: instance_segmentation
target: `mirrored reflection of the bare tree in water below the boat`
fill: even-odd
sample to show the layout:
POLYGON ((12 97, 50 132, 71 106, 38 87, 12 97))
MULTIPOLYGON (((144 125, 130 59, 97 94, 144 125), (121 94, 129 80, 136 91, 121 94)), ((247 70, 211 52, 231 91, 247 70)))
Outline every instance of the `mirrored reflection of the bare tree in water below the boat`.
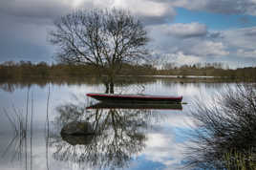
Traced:
POLYGON ((96 169, 128 166, 132 157, 145 147, 143 130, 153 120, 151 110, 86 110, 66 104, 59 106, 57 112, 54 122, 58 127, 71 121, 86 121, 91 123, 95 135, 63 138, 66 141, 54 137, 54 159, 72 160, 96 169))

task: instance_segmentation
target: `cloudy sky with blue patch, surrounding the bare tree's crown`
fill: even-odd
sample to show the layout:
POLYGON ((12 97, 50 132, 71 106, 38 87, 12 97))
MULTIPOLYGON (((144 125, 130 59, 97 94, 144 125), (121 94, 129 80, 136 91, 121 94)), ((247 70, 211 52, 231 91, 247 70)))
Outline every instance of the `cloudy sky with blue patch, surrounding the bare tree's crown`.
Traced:
POLYGON ((53 20, 92 8, 139 16, 152 53, 169 62, 256 66, 256 0, 1 0, 0 62, 53 62, 53 20))

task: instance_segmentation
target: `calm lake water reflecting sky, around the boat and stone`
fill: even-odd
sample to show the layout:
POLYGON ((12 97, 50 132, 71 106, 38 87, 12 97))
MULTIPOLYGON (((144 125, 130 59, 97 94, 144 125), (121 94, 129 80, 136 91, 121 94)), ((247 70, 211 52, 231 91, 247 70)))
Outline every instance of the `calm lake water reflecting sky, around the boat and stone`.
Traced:
MULTIPOLYGON (((189 145, 193 102, 208 102, 224 83, 180 83, 171 78, 119 83, 115 93, 183 96, 170 108, 88 108, 97 103, 87 93, 102 84, 84 82, 0 84, 0 169, 178 169, 189 145), (28 113, 27 120, 26 114, 28 113), (12 121, 23 118, 27 136, 15 136, 12 121), (88 121, 97 134, 61 138, 61 128, 88 121)), ((17 124, 17 122, 13 122, 17 124)))

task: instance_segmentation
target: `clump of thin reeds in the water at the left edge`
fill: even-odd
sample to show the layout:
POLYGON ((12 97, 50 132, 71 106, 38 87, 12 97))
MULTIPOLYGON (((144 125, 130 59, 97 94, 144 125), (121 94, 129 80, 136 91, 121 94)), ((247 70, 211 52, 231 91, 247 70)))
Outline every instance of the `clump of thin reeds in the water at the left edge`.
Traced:
POLYGON ((31 99, 29 96, 30 90, 28 90, 26 95, 26 113, 17 109, 14 105, 12 105, 11 110, 3 108, 3 114, 9 120, 13 130, 13 138, 11 138, 11 142, 7 145, 2 157, 6 156, 13 149, 11 151, 11 160, 24 160, 26 169, 29 169, 29 167, 32 169, 33 95, 31 95, 31 99), (29 108, 30 104, 31 110, 29 108))

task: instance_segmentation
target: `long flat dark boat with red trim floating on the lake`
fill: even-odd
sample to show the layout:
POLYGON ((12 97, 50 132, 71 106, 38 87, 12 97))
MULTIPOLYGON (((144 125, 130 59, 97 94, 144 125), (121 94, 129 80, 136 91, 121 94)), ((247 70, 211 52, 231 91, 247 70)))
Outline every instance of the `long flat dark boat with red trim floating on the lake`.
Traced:
POLYGON ((181 103, 182 96, 152 96, 152 95, 116 95, 116 94, 87 94, 104 102, 128 103, 181 103))

